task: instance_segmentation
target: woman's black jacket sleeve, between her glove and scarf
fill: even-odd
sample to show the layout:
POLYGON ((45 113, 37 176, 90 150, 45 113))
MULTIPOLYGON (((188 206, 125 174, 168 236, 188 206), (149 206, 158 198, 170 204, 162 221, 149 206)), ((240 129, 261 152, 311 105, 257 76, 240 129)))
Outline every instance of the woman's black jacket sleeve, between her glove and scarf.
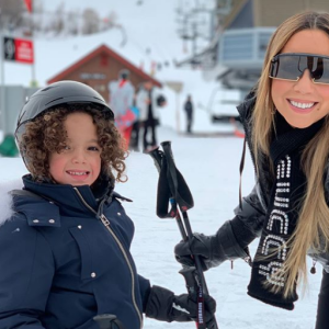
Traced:
POLYGON ((257 237, 260 237, 265 213, 261 206, 256 189, 243 197, 242 207, 235 209, 235 217, 227 220, 217 231, 218 240, 228 259, 246 258, 247 249, 257 237))

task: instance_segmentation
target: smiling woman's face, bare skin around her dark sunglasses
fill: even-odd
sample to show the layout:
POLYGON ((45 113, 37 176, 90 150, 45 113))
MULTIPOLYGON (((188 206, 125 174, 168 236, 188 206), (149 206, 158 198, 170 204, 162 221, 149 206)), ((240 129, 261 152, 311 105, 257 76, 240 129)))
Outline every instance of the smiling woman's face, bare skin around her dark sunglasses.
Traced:
MULTIPOLYGON (((329 36, 320 30, 297 32, 283 53, 329 56, 329 36)), ((273 79, 271 92, 276 110, 293 127, 306 128, 329 113, 329 84, 314 83, 307 69, 298 81, 273 79)))

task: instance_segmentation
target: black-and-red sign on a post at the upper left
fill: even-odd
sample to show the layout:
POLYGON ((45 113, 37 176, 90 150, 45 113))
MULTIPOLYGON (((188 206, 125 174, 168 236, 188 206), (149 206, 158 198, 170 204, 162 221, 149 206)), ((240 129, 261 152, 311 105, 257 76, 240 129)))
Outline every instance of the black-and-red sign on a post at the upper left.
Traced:
POLYGON ((33 42, 23 38, 4 37, 3 39, 4 59, 33 64, 33 42))

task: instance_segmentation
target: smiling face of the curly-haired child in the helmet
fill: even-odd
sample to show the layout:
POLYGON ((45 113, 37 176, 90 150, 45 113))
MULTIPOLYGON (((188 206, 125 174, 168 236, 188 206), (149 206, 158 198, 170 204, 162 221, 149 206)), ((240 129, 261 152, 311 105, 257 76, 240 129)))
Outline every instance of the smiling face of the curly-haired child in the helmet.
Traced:
POLYGON ((101 172, 97 127, 87 113, 69 114, 65 121, 66 147, 49 157, 49 172, 59 184, 91 185, 101 172))

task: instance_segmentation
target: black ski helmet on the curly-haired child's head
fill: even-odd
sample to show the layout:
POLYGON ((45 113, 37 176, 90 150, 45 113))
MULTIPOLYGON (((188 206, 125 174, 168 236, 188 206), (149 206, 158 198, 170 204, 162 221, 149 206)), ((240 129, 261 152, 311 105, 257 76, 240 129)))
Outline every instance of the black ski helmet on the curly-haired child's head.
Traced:
MULTIPOLYGON (((41 114, 58 105, 95 104, 107 120, 114 120, 114 114, 104 99, 91 87, 77 81, 59 81, 52 83, 30 97, 21 110, 15 129, 15 139, 20 148, 25 124, 41 114)), ((26 159, 20 148, 24 162, 26 159)))

